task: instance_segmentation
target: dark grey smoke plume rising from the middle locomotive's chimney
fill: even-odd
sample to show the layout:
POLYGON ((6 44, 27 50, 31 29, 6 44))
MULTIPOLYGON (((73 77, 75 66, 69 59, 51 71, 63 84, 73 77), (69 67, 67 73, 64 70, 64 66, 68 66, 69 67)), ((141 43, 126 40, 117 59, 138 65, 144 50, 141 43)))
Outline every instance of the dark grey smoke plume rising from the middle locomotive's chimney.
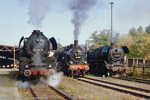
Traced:
POLYGON ((69 9, 73 12, 71 22, 74 24, 74 39, 78 40, 81 25, 88 18, 88 11, 96 4, 97 0, 72 0, 69 9))

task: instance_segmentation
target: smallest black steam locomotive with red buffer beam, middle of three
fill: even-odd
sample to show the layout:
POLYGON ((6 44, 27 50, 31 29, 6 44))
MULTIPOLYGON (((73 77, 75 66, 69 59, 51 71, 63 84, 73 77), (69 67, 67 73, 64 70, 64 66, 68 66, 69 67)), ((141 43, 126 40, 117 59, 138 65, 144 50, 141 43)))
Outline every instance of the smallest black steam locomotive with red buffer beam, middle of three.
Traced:
POLYGON ((63 70, 67 76, 84 76, 89 70, 85 51, 78 46, 78 41, 74 41, 74 45, 60 48, 56 52, 59 70, 63 70))

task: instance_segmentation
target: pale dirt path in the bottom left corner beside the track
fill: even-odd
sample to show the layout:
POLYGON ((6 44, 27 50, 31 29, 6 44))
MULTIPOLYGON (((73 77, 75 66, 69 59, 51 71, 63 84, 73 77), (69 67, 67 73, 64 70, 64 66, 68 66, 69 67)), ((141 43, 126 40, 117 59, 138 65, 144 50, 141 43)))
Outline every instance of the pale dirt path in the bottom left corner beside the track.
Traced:
POLYGON ((0 72, 0 100, 21 100, 17 84, 17 71, 0 72))

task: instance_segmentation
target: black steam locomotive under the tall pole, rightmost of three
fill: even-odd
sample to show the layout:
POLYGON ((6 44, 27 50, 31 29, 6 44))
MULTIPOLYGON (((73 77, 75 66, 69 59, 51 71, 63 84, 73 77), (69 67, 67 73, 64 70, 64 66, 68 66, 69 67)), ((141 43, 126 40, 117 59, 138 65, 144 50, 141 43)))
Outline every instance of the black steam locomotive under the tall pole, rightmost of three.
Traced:
POLYGON ((129 49, 126 46, 99 47, 87 52, 87 60, 90 64, 90 73, 96 75, 112 76, 126 74, 126 54, 129 49))

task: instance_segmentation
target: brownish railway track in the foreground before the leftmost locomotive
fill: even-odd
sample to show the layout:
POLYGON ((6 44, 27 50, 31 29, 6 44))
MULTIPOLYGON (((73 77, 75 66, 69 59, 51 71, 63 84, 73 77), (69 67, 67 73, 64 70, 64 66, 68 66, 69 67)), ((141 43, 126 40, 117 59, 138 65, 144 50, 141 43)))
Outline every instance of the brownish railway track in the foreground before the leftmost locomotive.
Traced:
POLYGON ((35 100, 73 100, 71 97, 52 86, 42 88, 30 87, 30 91, 33 95, 31 99, 35 100))

